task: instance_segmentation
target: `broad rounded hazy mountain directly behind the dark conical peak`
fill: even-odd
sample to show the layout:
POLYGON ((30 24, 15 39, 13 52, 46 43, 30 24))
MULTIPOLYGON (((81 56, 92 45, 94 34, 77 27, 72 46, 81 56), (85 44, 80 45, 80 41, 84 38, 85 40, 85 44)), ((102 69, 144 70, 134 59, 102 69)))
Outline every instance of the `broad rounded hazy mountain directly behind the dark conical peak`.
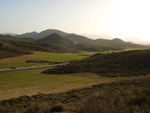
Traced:
POLYGON ((57 33, 58 35, 60 36, 67 36, 68 33, 65 33, 63 31, 60 31, 60 30, 56 30, 56 29, 47 29, 47 30, 44 30, 40 33, 37 33, 37 32, 31 32, 31 33, 25 33, 25 34, 21 34, 21 35, 16 35, 17 37, 19 38, 44 38, 50 34, 53 34, 53 33, 57 33))

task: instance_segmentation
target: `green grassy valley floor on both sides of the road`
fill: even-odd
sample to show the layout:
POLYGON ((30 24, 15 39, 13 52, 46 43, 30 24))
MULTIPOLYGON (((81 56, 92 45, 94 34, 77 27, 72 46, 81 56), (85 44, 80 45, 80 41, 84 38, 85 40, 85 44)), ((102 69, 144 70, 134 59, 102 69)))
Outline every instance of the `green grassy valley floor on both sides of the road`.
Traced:
MULTIPOLYGON (((95 54, 95 52, 50 53, 36 51, 30 55, 1 59, 0 68, 8 68, 10 66, 23 67, 41 65, 38 63, 25 63, 26 60, 46 60, 51 62, 64 62, 70 60, 80 60, 83 58, 87 58, 88 56, 93 54, 95 54)), ((42 74, 41 72, 46 69, 48 68, 1 72, 0 100, 19 97, 21 95, 33 95, 39 92, 58 93, 75 88, 89 87, 93 84, 131 79, 131 77, 100 77, 99 75, 93 73, 63 75, 42 74)))

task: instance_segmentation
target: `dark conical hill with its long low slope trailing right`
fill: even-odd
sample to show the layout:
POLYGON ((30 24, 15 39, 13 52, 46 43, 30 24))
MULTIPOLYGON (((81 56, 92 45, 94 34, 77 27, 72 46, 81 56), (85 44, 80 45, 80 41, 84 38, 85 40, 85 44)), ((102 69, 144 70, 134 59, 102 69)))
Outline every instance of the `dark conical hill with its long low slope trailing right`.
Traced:
POLYGON ((113 46, 101 46, 88 43, 80 43, 70 38, 64 38, 56 33, 53 33, 45 38, 36 40, 41 46, 50 48, 54 52, 79 52, 79 51, 93 51, 100 52, 106 50, 120 51, 124 48, 113 46))

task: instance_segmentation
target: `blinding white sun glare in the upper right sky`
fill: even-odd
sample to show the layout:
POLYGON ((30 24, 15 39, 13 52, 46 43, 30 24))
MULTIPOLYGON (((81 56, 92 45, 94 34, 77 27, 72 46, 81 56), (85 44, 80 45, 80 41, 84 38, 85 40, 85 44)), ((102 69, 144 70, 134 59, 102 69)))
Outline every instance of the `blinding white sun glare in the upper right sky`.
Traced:
POLYGON ((121 35, 135 36, 150 41, 150 1, 126 0, 117 8, 113 16, 115 29, 121 35))

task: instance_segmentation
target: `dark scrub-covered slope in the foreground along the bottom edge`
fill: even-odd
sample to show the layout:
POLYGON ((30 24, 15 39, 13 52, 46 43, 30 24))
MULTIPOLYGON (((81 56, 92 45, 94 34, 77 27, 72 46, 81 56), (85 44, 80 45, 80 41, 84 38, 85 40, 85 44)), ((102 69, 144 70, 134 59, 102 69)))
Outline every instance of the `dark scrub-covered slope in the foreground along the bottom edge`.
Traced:
POLYGON ((150 78, 137 77, 59 94, 0 101, 2 113, 149 113, 150 78))

